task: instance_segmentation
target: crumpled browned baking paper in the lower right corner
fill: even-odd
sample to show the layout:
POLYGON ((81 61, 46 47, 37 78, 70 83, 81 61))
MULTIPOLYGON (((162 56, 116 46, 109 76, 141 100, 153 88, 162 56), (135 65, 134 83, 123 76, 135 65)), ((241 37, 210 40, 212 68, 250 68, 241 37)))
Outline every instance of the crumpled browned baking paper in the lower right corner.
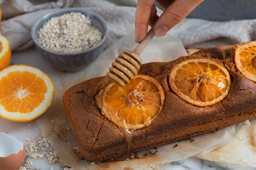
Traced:
POLYGON ((252 120, 251 126, 242 128, 226 144, 204 150, 194 157, 256 167, 256 120, 252 120))

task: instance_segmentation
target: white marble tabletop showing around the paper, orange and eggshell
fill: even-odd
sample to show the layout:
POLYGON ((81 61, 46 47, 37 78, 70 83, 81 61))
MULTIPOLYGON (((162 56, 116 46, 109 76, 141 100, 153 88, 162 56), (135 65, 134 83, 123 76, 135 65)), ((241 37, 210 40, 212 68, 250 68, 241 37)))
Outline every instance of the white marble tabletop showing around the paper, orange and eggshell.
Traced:
MULTIPOLYGON (((45 65, 45 69, 51 67, 40 57, 40 55, 37 53, 34 47, 22 52, 13 52, 11 64, 27 64, 27 65, 34 66, 35 64, 31 63, 28 60, 29 56, 30 57, 33 56, 34 61, 37 61, 38 63, 45 65)), ((30 132, 28 132, 27 123, 16 123, 16 122, 7 121, 0 118, 0 132, 5 132, 5 133, 8 133, 9 135, 13 135, 25 143, 24 138, 26 136, 32 137, 33 135, 37 135, 40 133, 39 128, 36 126, 36 122, 32 122, 32 123, 34 128, 31 129, 30 132)), ((63 166, 61 163, 48 165, 47 160, 41 160, 41 159, 31 159, 31 161, 33 162, 34 169, 37 169, 37 170, 50 170, 51 167, 54 167, 55 168, 54 170, 61 170, 61 167, 63 166)), ((180 161, 175 161, 172 163, 166 163, 165 165, 160 165, 159 169, 160 170, 256 170, 256 168, 254 167, 240 166, 234 163, 213 162, 213 161, 207 161, 207 160, 193 158, 193 157, 190 157, 188 159, 183 159, 180 161)))

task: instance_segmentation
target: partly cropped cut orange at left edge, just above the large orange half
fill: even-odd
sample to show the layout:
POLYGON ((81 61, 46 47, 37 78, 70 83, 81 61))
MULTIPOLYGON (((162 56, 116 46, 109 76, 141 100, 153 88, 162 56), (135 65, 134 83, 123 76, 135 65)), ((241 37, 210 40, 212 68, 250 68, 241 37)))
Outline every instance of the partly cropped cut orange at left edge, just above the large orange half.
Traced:
POLYGON ((0 35, 0 70, 11 63, 11 47, 9 41, 0 35))

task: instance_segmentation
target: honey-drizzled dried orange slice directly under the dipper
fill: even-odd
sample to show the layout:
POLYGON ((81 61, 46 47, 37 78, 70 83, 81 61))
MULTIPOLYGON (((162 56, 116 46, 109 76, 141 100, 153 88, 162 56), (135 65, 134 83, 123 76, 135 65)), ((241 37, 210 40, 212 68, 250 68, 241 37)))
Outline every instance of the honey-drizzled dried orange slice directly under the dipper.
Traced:
POLYGON ((135 130, 149 126, 164 106, 164 90, 159 82, 137 75, 124 87, 108 84, 96 97, 102 114, 119 128, 135 130))

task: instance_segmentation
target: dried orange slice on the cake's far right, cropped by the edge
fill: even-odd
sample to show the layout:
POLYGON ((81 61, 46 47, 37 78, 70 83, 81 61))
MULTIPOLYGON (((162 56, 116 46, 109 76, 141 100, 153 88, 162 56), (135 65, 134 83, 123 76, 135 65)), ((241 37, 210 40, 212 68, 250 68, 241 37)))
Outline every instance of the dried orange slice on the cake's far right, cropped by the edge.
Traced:
POLYGON ((256 82, 256 41, 238 46, 234 53, 234 61, 242 75, 256 82))

